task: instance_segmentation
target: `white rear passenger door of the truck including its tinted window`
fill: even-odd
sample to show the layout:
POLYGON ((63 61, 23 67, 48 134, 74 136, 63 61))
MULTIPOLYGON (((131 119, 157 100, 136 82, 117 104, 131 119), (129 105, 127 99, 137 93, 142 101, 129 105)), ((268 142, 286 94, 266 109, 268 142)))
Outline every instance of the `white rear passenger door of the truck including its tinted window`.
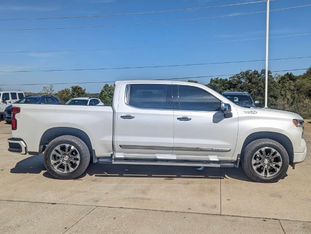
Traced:
POLYGON ((127 84, 120 89, 117 108, 117 158, 172 157, 172 85, 127 84), (122 93, 125 93, 125 98, 122 93))

